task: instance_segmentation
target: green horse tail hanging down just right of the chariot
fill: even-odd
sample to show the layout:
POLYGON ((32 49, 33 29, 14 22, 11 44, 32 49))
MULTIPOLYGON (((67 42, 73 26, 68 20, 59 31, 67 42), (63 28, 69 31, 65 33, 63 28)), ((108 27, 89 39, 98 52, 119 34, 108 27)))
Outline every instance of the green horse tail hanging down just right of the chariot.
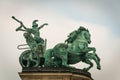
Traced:
POLYGON ((50 67, 52 65, 52 56, 53 56, 52 54, 53 54, 53 49, 46 50, 44 54, 44 58, 45 58, 44 66, 45 67, 50 67))

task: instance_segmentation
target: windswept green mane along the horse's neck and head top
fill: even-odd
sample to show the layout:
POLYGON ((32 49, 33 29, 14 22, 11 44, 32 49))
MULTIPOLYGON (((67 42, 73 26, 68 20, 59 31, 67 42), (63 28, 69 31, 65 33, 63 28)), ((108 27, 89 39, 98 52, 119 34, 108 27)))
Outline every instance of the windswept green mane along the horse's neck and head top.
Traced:
POLYGON ((81 34, 82 31, 88 31, 88 29, 80 26, 78 30, 73 31, 68 35, 68 38, 65 40, 65 42, 72 43, 76 39, 77 35, 81 34))

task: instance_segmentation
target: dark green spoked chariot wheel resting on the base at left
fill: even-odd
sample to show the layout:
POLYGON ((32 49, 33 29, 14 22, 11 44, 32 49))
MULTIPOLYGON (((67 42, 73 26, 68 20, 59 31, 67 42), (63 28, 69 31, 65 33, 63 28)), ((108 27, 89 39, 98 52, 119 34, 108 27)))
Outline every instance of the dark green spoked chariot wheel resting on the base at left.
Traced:
POLYGON ((31 50, 26 50, 22 52, 19 57, 19 62, 22 67, 38 67, 40 63, 40 58, 38 54, 32 54, 31 50))

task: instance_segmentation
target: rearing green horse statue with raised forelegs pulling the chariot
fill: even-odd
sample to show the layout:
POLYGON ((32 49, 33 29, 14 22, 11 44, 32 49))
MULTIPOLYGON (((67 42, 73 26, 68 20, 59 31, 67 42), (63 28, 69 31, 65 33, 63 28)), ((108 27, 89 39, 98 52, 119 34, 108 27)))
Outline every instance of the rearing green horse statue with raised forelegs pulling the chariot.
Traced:
POLYGON ((44 54, 45 67, 71 67, 70 64, 76 64, 80 61, 90 66, 83 70, 88 71, 93 67, 91 60, 94 60, 97 69, 101 69, 100 58, 96 54, 94 47, 88 47, 91 43, 91 35, 88 29, 79 27, 73 31, 65 40, 65 43, 58 43, 52 49, 46 50, 44 54), (92 52, 92 53, 90 53, 92 52))

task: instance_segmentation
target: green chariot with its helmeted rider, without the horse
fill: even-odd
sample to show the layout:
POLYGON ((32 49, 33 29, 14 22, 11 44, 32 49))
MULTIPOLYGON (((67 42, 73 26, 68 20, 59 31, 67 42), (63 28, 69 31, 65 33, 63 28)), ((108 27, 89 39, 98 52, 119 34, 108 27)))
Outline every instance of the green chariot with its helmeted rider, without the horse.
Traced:
MULTIPOLYGON (((44 41, 40 37, 39 30, 48 24, 45 23, 40 27, 38 27, 38 24, 36 23, 38 22, 38 20, 34 20, 32 23, 32 28, 26 28, 24 24, 18 19, 16 19, 14 16, 12 16, 12 18, 21 24, 20 27, 16 29, 16 31, 24 31, 23 35, 26 39, 26 43, 27 43, 26 45, 29 46, 29 50, 25 50, 24 52, 22 52, 22 54, 19 57, 19 62, 21 66, 22 67, 42 66, 44 64, 43 54, 46 49, 46 40, 44 41)), ((20 46, 24 46, 24 45, 25 44, 19 45, 18 49, 20 49, 19 48, 20 46)), ((27 49, 27 48, 21 48, 21 49, 27 49)))

